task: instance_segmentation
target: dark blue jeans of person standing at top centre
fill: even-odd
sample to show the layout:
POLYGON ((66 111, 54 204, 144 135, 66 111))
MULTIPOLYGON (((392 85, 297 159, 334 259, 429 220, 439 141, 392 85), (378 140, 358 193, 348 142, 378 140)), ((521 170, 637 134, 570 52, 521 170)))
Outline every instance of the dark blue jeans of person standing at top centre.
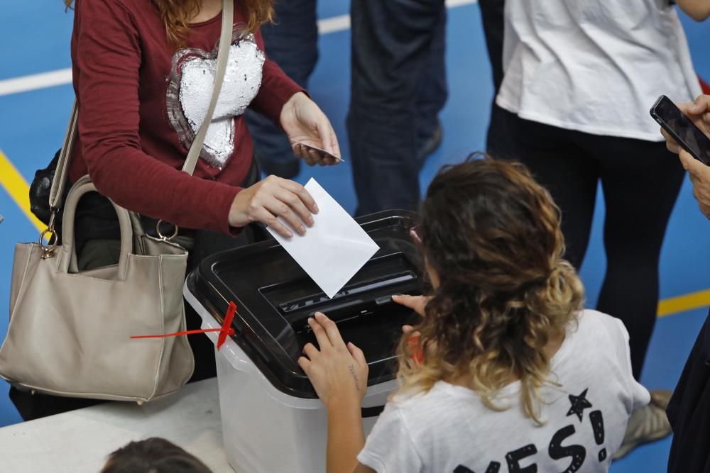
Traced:
POLYGON ((420 203, 417 150, 447 99, 444 0, 352 0, 347 118, 357 215, 420 203))

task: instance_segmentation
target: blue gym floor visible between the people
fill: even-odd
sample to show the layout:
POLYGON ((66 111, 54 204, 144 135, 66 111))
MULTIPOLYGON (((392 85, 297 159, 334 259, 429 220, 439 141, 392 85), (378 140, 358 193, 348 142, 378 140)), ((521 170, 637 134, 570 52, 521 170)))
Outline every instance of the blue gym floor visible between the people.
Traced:
MULTIPOLYGON (((458 6, 449 10, 447 31, 450 96, 441 116, 444 142, 422 171, 422 189, 440 165, 456 162, 469 152, 484 148, 492 84, 481 18, 478 6, 471 1, 455 3, 458 6)), ((319 15, 320 18, 333 18, 348 13, 348 9, 347 0, 324 0, 320 2, 319 15)), ((65 13, 62 1, 4 2, 0 14, 5 38, 5 47, 0 50, 0 90, 4 79, 70 67, 72 13, 65 13)), ((694 23, 686 17, 683 23, 697 72, 710 79, 710 51, 707 50, 710 25, 694 23)), ((349 30, 339 30, 322 35, 320 63, 310 82, 312 96, 328 114, 338 133, 346 162, 327 169, 304 167, 297 180, 305 183, 310 177, 316 177, 348 211, 353 211, 355 196, 344 126, 349 101, 349 34, 349 30)), ((31 181, 35 169, 45 167, 60 147, 72 93, 70 85, 60 85, 0 94, 0 150, 27 182, 31 181)), ((0 175, 0 182, 7 177, 0 175)), ((662 299, 710 288, 710 225, 699 213, 689 184, 685 182, 682 189, 662 252, 662 299)), ((3 337, 8 321, 6 308, 9 305, 13 247, 18 241, 35 240, 38 232, 4 190, 0 190, 0 215, 5 218, 0 225, 0 307, 4 311, 0 313, 0 337, 3 337)), ((594 235, 581 271, 589 306, 595 304, 605 267, 601 200, 595 218, 594 235)), ((706 307, 694 308, 658 319, 642 377, 645 386, 673 388, 706 312, 706 307)), ((7 384, 0 382, 0 426, 20 421, 6 398, 6 391, 7 384)), ((670 440, 666 439, 640 447, 613 464, 611 471, 665 471, 669 445, 670 440)))

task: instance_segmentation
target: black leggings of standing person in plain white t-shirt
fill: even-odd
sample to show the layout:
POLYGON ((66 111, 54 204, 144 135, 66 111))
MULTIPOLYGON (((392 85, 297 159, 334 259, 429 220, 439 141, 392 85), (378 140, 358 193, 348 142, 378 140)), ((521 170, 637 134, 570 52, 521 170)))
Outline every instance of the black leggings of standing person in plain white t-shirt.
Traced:
POLYGON ((577 269, 601 181, 607 265, 597 308, 626 325, 639 379, 656 321, 661 245, 683 182, 678 157, 662 142, 591 135, 505 113, 515 157, 562 211, 566 258, 577 269))

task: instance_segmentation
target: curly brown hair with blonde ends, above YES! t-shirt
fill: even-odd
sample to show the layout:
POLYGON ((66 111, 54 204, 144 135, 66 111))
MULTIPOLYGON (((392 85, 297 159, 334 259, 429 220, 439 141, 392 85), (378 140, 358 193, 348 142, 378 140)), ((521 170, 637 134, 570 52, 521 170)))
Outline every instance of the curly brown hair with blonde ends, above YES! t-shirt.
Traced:
POLYGON ((476 159, 439 170, 418 234, 439 285, 413 341, 400 341, 403 391, 470 379, 488 408, 513 380, 525 415, 540 421, 545 345, 581 311, 584 289, 562 259, 559 209, 523 165, 476 159))

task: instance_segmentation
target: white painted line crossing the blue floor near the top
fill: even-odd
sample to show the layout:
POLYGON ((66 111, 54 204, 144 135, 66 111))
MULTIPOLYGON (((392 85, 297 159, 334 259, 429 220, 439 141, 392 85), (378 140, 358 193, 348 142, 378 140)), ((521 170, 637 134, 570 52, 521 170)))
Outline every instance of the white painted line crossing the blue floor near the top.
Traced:
MULTIPOLYGON (((382 0, 385 1, 385 0, 382 0)), ((476 0, 447 0, 449 9, 475 4, 476 0)), ((322 35, 337 33, 350 28, 350 15, 333 16, 318 21, 318 32, 322 35)), ((59 69, 41 74, 31 74, 14 79, 0 80, 0 96, 19 94, 32 90, 46 89, 72 83, 72 69, 59 69)))

